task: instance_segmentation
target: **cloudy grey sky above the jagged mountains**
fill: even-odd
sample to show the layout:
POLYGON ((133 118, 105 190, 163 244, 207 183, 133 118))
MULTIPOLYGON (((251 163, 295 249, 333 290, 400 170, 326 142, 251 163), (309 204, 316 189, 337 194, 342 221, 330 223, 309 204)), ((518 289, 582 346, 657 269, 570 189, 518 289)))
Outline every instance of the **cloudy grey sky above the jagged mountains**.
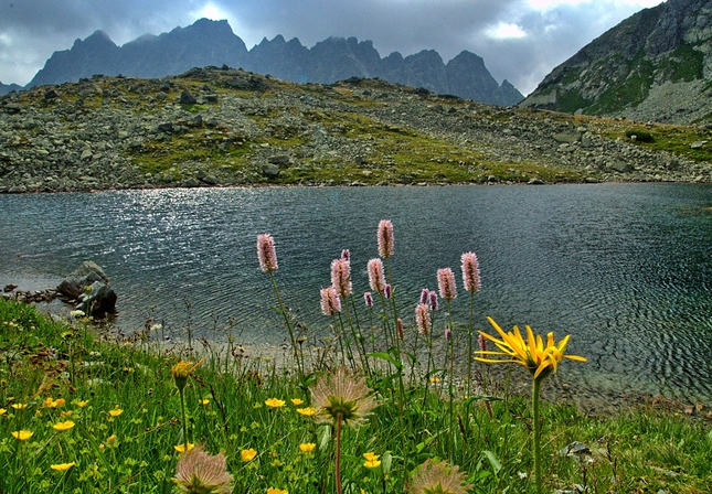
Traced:
POLYGON ((116 44, 200 18, 227 19, 247 49, 283 34, 311 47, 372 40, 381 56, 463 50, 524 95, 553 67, 660 0, 0 0, 0 82, 25 85, 54 51, 105 31, 116 44))

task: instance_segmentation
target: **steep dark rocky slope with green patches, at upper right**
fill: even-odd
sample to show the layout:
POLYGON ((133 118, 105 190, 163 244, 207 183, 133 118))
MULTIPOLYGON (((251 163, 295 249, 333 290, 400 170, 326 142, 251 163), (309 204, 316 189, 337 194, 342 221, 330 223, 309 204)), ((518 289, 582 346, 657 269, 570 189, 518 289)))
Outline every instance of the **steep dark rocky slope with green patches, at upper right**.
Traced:
POLYGON ((604 33, 521 103, 587 115, 712 121, 712 2, 668 0, 604 33))

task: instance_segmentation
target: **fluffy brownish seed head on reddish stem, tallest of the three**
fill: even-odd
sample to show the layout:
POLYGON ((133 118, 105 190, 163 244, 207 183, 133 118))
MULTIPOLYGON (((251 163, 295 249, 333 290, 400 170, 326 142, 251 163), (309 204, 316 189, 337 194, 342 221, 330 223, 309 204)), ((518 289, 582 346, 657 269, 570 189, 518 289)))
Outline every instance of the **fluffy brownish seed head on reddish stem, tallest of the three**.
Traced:
POLYGON ((378 406, 371 396, 371 388, 365 385, 365 378, 357 378, 343 367, 321 376, 311 395, 320 421, 336 423, 341 419, 346 425, 359 425, 378 406))

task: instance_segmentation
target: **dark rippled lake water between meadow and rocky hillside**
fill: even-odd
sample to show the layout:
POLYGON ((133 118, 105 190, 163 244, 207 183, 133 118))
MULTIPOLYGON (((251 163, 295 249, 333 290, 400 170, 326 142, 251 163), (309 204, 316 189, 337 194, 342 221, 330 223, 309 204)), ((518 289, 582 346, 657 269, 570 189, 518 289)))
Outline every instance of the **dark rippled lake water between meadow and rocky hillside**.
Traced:
MULTIPOLYGON (((0 283, 55 286, 84 259, 119 294, 117 325, 151 316, 176 334, 280 344, 286 330, 256 237, 276 240, 277 283, 311 332, 328 334, 319 289, 351 250, 354 291, 378 256, 375 229, 395 227, 392 271, 413 324, 421 289, 451 267, 466 321, 460 254, 477 253, 476 327, 531 325, 571 334, 572 378, 604 387, 712 397, 712 186, 275 187, 0 195, 0 283), (229 324, 230 321, 230 324, 229 324), (182 334, 182 333, 181 333, 182 334)), ((361 305, 359 296, 358 302, 361 305)), ((439 316, 439 321, 444 318, 439 316)), ((442 331, 442 327, 438 330, 442 331)))

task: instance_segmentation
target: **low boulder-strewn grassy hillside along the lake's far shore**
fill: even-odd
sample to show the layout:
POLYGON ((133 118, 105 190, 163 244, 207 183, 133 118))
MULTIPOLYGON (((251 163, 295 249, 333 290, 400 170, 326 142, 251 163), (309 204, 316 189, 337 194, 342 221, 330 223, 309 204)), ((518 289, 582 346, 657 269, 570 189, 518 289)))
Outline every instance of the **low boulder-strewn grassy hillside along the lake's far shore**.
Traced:
POLYGON ((232 68, 0 97, 0 192, 712 181, 710 130, 502 108, 383 80, 232 68))

